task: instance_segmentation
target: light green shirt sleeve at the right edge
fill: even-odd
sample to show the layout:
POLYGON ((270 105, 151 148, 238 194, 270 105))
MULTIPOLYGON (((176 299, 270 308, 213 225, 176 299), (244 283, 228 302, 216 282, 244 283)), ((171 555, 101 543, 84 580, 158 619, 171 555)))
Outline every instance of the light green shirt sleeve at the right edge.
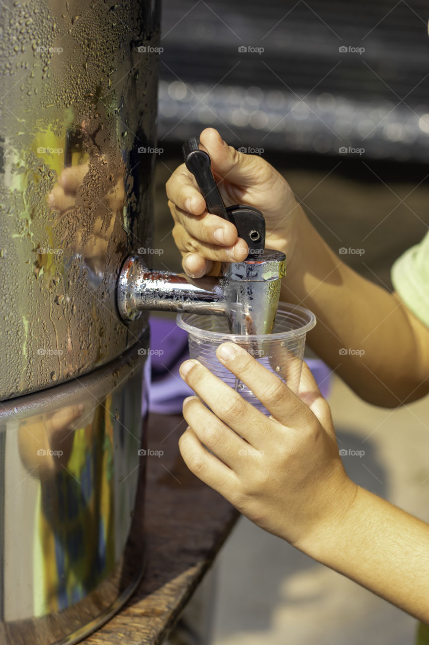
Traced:
POLYGON ((391 278, 401 300, 429 327, 429 232, 396 260, 391 278))

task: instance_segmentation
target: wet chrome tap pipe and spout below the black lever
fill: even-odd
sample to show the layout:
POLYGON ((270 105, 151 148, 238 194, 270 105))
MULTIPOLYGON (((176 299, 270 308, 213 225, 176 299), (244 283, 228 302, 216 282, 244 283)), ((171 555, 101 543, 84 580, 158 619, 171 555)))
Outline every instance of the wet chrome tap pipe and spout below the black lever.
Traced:
POLYGON ((232 333, 270 333, 280 299, 286 256, 266 249, 240 263, 222 265, 222 277, 190 278, 186 273, 151 271, 142 256, 122 266, 117 286, 118 310, 124 320, 142 311, 225 315, 232 333))

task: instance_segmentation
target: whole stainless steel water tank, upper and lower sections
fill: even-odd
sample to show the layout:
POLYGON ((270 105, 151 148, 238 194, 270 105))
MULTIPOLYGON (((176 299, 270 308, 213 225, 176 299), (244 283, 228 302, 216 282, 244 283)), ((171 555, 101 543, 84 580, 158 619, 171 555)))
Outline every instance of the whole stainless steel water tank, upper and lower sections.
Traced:
POLYGON ((0 643, 77 642, 144 566, 157 0, 0 6, 0 643))

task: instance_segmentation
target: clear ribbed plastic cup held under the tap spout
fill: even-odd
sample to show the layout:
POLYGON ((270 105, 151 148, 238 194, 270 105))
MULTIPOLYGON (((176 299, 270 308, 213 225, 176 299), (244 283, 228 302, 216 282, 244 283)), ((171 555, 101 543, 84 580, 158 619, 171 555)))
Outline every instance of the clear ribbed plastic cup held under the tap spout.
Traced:
POLYGON ((218 361, 216 349, 222 342, 236 342, 270 372, 274 372, 291 390, 297 392, 305 335, 316 324, 316 317, 302 307, 279 303, 272 333, 249 336, 229 333, 227 319, 217 315, 179 313, 176 323, 187 331, 191 359, 198 359, 244 399, 269 415, 247 385, 218 361))

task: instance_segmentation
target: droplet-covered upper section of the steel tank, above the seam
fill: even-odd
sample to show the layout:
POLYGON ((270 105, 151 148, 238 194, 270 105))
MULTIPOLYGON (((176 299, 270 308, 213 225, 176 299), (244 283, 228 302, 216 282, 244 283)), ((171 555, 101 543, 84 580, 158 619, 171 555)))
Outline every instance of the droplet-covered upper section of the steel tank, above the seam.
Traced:
POLYGON ((157 0, 0 6, 0 400, 111 361, 115 283, 147 246, 157 0))

